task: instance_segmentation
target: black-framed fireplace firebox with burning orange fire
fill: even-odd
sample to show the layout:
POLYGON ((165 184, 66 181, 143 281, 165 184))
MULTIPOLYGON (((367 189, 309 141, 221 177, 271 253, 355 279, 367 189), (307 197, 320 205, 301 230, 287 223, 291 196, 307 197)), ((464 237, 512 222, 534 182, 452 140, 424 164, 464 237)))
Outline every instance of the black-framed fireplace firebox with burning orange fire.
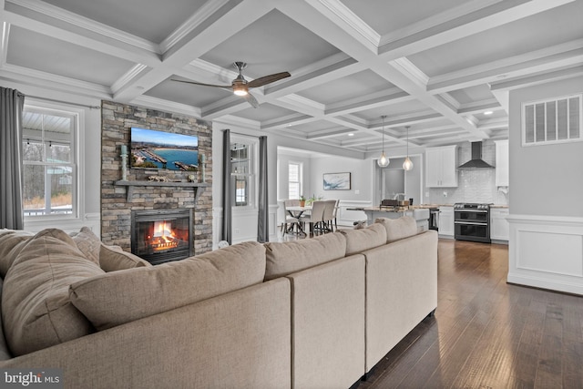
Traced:
POLYGON ((192 210, 132 210, 131 252, 153 265, 193 255, 192 210))

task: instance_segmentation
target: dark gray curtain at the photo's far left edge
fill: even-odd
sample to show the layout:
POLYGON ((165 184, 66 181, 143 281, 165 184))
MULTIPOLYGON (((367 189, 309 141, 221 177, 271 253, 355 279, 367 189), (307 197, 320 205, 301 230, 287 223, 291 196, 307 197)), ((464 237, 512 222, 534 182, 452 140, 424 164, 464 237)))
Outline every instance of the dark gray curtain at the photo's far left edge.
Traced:
POLYGON ((0 228, 23 230, 22 109, 25 95, 0 87, 0 228))

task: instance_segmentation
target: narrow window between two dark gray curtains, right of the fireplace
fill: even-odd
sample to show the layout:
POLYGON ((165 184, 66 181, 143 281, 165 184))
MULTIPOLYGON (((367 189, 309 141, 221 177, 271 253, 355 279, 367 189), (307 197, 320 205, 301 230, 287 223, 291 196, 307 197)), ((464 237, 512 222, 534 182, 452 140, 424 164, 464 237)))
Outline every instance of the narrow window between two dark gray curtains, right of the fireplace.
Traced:
POLYGON ((230 183, 235 207, 254 205, 256 145, 251 140, 237 140, 230 144, 230 183))

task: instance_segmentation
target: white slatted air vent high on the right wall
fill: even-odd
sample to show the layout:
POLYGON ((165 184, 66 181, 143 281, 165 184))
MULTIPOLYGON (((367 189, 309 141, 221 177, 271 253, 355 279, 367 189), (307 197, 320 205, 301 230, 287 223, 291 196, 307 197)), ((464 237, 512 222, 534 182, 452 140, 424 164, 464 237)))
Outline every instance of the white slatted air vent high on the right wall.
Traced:
POLYGON ((522 145, 583 140, 583 95, 554 97, 522 104, 522 145))

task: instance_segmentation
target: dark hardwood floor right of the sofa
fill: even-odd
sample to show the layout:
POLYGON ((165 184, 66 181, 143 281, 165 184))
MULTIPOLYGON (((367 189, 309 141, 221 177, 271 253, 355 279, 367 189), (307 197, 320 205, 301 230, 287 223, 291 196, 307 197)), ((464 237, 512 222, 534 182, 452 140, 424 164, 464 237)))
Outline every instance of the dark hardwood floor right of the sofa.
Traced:
POLYGON ((358 389, 583 388, 583 297, 506 283, 506 245, 439 241, 438 304, 358 389))

